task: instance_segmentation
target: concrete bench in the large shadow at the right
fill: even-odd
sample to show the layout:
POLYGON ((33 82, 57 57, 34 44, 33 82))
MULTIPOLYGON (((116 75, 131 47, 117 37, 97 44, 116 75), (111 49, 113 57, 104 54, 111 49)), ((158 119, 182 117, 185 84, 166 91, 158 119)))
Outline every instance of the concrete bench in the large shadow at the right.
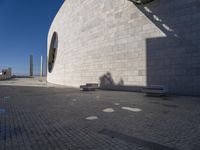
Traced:
POLYGON ((167 87, 161 85, 150 85, 142 88, 142 92, 150 96, 165 96, 168 89, 167 87))

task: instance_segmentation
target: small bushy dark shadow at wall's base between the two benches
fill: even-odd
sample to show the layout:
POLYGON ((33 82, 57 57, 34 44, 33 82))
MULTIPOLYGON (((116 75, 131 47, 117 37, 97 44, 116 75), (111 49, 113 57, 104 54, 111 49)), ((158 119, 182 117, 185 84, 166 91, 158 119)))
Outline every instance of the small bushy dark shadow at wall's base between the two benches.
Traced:
POLYGON ((113 80, 110 72, 105 73, 100 78, 100 89, 103 90, 115 90, 115 91, 129 91, 129 92, 141 92, 143 86, 130 86, 124 85, 124 80, 121 78, 118 83, 113 80))

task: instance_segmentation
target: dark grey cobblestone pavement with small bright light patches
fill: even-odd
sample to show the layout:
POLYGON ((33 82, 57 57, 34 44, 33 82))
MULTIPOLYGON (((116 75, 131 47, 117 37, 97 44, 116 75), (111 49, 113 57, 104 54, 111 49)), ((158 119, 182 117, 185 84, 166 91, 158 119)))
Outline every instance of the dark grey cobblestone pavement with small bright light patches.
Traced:
POLYGON ((0 150, 200 150, 200 98, 0 86, 0 150))

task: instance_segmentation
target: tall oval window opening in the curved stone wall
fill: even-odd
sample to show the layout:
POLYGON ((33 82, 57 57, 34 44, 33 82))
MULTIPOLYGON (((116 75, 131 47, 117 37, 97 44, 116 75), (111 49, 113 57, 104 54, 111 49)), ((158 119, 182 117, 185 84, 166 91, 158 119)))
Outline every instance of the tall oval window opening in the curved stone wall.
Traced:
POLYGON ((58 34, 54 32, 51 38, 50 49, 49 49, 49 58, 48 58, 49 73, 51 73, 53 70, 56 60, 57 49, 58 49, 58 34))

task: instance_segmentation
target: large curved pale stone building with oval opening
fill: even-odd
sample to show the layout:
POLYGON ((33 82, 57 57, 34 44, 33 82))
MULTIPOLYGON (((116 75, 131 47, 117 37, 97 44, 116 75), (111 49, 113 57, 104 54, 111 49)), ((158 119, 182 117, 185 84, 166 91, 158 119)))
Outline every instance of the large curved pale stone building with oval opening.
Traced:
POLYGON ((141 2, 65 1, 49 30, 47 81, 79 87, 109 74, 120 87, 200 95, 199 1, 131 1, 141 2))

